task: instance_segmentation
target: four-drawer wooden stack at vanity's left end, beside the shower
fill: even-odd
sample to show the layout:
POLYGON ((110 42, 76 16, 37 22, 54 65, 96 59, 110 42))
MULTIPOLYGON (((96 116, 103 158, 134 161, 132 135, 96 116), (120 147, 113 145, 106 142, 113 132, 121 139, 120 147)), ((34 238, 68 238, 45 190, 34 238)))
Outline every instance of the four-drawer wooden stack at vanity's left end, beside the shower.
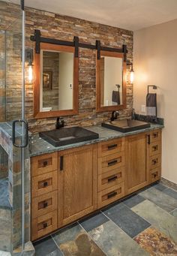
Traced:
POLYGON ((57 229, 57 152, 31 158, 31 240, 57 229))

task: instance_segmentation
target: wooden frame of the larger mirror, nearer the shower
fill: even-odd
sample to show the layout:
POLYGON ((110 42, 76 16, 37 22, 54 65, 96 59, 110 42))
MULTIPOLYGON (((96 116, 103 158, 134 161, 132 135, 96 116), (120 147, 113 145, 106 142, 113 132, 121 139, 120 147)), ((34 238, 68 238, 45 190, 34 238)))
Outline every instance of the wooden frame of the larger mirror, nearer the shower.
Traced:
MULTIPOLYGON (((40 50, 75 53, 75 47, 40 43, 40 50)), ((40 112, 40 53, 34 53, 34 118, 71 116, 78 113, 79 58, 74 56, 73 109, 40 112)))

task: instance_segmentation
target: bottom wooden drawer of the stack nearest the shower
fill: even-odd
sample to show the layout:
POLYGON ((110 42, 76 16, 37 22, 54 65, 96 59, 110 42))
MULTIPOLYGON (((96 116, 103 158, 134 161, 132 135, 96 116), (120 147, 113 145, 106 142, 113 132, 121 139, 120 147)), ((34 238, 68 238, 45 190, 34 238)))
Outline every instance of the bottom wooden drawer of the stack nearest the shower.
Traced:
POLYGON ((57 211, 34 218, 32 220, 31 240, 45 236, 57 229, 57 211))

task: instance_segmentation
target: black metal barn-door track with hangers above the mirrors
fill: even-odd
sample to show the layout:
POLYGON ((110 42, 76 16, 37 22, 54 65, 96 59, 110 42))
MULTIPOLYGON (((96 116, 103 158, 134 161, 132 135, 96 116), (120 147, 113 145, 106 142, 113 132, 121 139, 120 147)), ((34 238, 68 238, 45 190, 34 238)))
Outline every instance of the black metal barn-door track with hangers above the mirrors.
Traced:
POLYGON ((65 45, 68 47, 75 47, 75 56, 78 56, 78 48, 86 48, 92 50, 98 50, 98 59, 100 59, 100 51, 108 51, 108 52, 116 52, 116 53, 124 53, 124 62, 126 62, 127 56, 127 46, 123 44, 122 48, 111 48, 111 47, 101 47, 101 41, 96 41, 96 44, 86 44, 80 43, 78 37, 74 37, 74 41, 63 41, 53 38, 43 38, 40 36, 40 30, 35 29, 34 35, 30 37, 31 41, 36 42, 36 53, 40 53, 40 43, 47 43, 47 44, 58 44, 58 45, 65 45))

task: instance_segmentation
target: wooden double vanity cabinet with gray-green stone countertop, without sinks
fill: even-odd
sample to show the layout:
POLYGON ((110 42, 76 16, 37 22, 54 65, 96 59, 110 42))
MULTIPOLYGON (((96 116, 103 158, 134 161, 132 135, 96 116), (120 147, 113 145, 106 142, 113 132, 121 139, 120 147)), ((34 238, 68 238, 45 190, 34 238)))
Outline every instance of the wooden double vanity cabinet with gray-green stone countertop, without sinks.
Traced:
POLYGON ((160 179, 161 125, 55 147, 34 137, 31 240, 39 239, 160 179))

